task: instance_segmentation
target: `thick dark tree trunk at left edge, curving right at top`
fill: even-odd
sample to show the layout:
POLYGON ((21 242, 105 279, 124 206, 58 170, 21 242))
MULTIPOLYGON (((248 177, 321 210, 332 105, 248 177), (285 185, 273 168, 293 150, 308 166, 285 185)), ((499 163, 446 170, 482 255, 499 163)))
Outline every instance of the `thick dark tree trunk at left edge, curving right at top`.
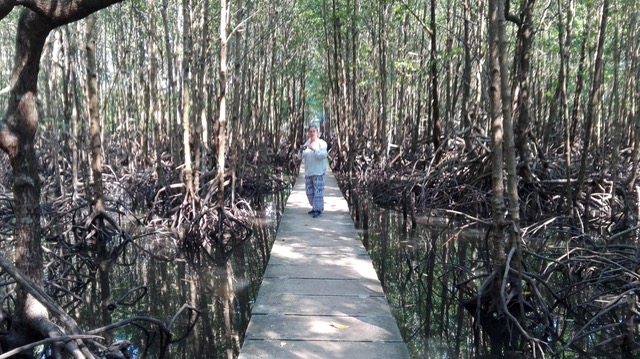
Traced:
MULTIPOLYGON (((40 287, 43 286, 41 185, 34 142, 39 121, 40 57, 51 30, 119 1, 27 3, 18 22, 9 103, 6 117, 0 123, 0 148, 9 155, 14 175, 15 267, 40 287)), ((0 19, 10 10, 0 10, 0 19)), ((56 327, 48 320, 48 311, 42 303, 28 294, 24 287, 18 286, 14 320, 2 349, 6 351, 34 339, 54 335, 52 328, 56 327)))

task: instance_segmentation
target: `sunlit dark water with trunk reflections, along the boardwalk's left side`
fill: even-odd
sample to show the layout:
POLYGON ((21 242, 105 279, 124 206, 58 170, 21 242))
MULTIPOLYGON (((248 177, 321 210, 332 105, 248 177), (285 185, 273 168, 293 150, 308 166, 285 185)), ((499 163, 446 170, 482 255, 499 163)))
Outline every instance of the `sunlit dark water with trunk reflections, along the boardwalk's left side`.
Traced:
POLYGON ((145 287, 147 293, 132 305, 126 301, 114 304, 112 322, 135 316, 156 318, 170 326, 172 336, 157 323, 140 320, 118 329, 115 339, 131 341, 136 358, 237 357, 287 195, 265 199, 265 210, 258 214, 253 235, 236 248, 226 264, 217 265, 204 252, 179 253, 158 237, 142 237, 139 245, 144 251, 139 252, 137 261, 113 267, 112 298, 137 286, 145 287), (174 342, 192 325, 193 316, 188 313, 174 318, 185 303, 195 307, 200 316, 191 334, 174 342))

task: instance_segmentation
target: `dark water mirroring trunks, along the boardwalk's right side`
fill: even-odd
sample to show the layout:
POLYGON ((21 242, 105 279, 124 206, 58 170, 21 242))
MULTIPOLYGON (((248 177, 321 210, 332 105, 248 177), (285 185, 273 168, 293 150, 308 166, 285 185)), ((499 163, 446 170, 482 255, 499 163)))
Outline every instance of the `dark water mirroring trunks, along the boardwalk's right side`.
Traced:
MULTIPOLYGON (((456 287, 473 275, 478 228, 446 221, 412 228, 401 213, 362 201, 356 221, 412 358, 471 358, 472 322, 456 287), (367 229, 368 228, 368 229, 367 229), (471 269, 470 269, 471 268, 471 269)), ((352 208, 352 213, 356 209, 352 208)))

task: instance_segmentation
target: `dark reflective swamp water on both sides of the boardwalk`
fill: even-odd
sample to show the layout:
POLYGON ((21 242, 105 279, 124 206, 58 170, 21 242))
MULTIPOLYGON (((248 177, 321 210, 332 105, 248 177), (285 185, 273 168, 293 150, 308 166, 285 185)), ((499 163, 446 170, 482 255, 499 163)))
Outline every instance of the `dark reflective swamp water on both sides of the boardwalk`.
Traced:
MULTIPOLYGON (((114 267, 111 280, 115 299, 137 286, 146 287, 147 293, 133 305, 118 305, 113 321, 148 316, 170 323, 185 303, 197 308, 200 316, 186 338, 166 346, 164 351, 168 338, 157 326, 144 321, 116 331, 115 339, 132 341, 136 357, 235 358, 286 195, 267 198, 254 235, 238 248, 226 266, 215 265, 206 255, 187 258, 173 253, 172 246, 161 237, 146 238, 142 245, 150 254, 142 254, 131 266, 114 267), (154 258, 174 255, 174 261, 154 258)), ((454 283, 467 275, 468 270, 463 270, 460 263, 465 268, 474 267, 478 232, 453 232, 440 226, 446 223, 437 219, 432 223, 436 227, 408 229, 402 215, 395 211, 360 206, 359 217, 352 209, 356 227, 374 261, 412 358, 470 357, 470 319, 457 304, 460 291, 454 283)), ((97 318, 96 313, 93 315, 97 318)), ((170 328, 174 340, 189 328, 188 317, 184 313, 170 328)))

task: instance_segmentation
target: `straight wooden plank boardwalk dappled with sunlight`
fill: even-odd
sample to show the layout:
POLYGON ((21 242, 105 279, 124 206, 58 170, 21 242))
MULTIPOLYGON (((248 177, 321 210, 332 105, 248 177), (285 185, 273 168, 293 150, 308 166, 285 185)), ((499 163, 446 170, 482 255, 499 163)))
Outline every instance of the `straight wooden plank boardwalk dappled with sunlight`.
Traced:
POLYGON ((330 171, 324 213, 312 218, 310 209, 300 173, 280 220, 239 359, 409 358, 330 171))

